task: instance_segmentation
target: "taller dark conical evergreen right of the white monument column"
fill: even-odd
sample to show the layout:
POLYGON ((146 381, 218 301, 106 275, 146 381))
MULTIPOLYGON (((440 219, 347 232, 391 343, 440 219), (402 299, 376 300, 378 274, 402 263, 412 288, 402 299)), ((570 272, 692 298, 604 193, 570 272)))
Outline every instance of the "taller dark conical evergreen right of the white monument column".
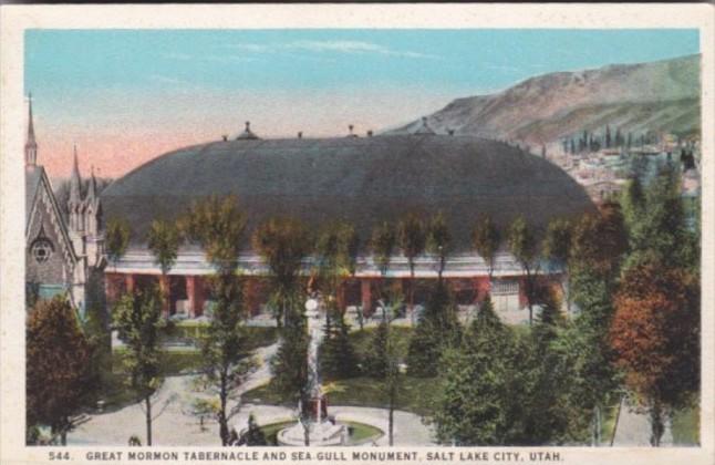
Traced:
POLYGON ((447 285, 438 281, 410 341, 407 373, 418 378, 436 376, 442 353, 458 344, 460 337, 454 298, 447 285))

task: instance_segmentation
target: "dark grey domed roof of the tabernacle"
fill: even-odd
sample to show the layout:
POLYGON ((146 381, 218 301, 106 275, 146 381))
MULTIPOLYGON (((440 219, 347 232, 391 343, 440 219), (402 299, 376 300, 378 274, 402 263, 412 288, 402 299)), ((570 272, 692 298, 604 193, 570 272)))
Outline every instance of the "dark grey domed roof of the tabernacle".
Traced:
POLYGON ((134 240, 149 223, 174 218, 193 200, 235 194, 247 237, 265 219, 288 215, 315 227, 355 225, 362 242, 377 221, 406 211, 443 211, 458 250, 472 249, 479 215, 506 226, 517 215, 543 228, 553 217, 594 210, 558 166, 504 143, 449 135, 238 140, 167 153, 102 193, 105 216, 125 217, 134 240))

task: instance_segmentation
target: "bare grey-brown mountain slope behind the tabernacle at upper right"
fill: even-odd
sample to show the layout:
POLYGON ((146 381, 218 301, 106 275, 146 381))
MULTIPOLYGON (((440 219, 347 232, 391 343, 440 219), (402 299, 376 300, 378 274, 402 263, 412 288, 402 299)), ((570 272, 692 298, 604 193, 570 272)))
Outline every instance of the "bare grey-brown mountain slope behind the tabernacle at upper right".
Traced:
MULTIPOLYGON (((550 144, 607 124, 623 134, 700 134, 700 55, 528 79, 505 91, 457 99, 427 116, 436 132, 550 144)), ((390 133, 410 133, 416 120, 390 133)))

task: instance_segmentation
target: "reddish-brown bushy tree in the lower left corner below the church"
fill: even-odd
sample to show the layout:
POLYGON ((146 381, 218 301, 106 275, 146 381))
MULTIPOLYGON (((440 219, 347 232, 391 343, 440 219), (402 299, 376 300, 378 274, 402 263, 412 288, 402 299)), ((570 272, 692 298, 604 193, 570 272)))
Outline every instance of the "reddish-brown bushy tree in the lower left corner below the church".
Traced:
POLYGON ((53 437, 66 444, 66 433, 91 388, 91 345, 74 310, 58 296, 40 300, 27 327, 27 423, 50 425, 53 437))

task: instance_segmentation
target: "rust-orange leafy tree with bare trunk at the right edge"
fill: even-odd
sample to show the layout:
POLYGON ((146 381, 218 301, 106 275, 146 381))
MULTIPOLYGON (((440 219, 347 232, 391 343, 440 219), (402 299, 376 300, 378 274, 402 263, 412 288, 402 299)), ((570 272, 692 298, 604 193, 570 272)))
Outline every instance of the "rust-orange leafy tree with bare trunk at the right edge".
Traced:
POLYGON ((630 268, 615 296, 611 343, 626 385, 651 417, 659 446, 664 420, 700 384, 700 287, 683 269, 651 260, 630 268))

